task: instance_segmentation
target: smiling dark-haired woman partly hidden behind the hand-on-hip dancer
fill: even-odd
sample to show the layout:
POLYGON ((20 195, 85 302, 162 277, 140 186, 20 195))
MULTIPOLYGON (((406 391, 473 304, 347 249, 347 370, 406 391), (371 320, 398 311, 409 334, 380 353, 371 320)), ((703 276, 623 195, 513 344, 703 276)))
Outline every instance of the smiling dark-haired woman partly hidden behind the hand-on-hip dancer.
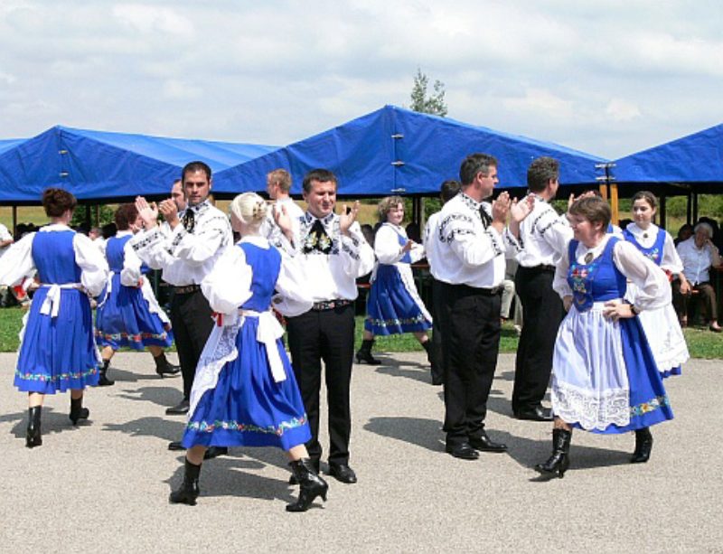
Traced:
MULTIPOLYGON (((675 249, 668 231, 653 223, 658 201, 653 192, 637 192, 633 197, 634 222, 624 230, 625 240, 632 242, 643 255, 662 268, 670 277, 678 277, 687 286, 683 275, 683 263, 675 249)), ((636 287, 628 285, 625 296, 635 305, 636 287)), ((655 363, 662 377, 681 374, 681 364, 688 361, 690 354, 681 331, 678 315, 671 304, 655 310, 645 310, 640 314, 640 323, 650 343, 655 363)))

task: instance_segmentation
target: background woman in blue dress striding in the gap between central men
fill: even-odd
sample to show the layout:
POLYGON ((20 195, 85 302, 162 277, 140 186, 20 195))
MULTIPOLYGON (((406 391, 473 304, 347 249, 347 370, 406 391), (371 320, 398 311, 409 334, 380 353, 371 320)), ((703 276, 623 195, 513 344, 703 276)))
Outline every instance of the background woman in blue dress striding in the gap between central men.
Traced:
POLYGON ((432 343, 427 329, 432 327, 432 316, 419 297, 410 267, 424 258, 424 247, 408 239, 401 227, 404 221, 401 197, 383 199, 378 210, 381 225, 374 238, 377 265, 371 274, 362 347, 356 352, 356 360, 379 365, 381 362, 371 355, 374 336, 400 333, 414 333, 428 357, 432 343))

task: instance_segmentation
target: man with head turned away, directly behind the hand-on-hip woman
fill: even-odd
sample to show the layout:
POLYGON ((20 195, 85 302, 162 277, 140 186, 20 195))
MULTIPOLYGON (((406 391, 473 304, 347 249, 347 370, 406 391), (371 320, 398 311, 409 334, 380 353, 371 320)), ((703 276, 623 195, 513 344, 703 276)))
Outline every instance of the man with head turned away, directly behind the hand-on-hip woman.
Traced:
POLYGON ((515 359, 512 412, 518 419, 552 421, 542 399, 552 371, 552 353, 565 310, 552 289, 555 267, 568 248, 572 229, 549 204, 559 187, 559 162, 543 156, 527 170, 527 186, 535 198, 530 216, 520 224, 515 289, 524 312, 524 325, 515 359))

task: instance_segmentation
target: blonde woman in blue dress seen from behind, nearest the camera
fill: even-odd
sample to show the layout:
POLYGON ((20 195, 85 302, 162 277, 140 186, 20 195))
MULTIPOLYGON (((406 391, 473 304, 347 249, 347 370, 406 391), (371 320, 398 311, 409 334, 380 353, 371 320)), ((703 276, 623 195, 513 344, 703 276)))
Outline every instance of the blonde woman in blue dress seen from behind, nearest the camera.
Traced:
POLYGON ((267 215, 252 192, 230 206, 231 226, 241 239, 202 281, 202 292, 218 314, 193 380, 183 446, 188 448, 182 486, 170 501, 194 505, 203 455, 210 446, 277 446, 286 451, 301 493, 288 512, 305 512, 328 485, 309 459, 311 439, 304 403, 281 342, 283 328, 271 311, 299 315, 311 309, 303 284, 294 281, 292 261, 258 229, 267 215), (277 291, 277 296, 274 291, 277 291))

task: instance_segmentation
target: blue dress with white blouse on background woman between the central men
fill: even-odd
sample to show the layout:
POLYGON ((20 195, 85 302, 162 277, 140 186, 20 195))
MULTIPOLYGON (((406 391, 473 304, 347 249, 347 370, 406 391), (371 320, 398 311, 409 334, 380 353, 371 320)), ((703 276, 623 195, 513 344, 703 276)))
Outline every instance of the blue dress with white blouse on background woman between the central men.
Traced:
POLYGON ((427 331, 429 315, 417 292, 410 264, 424 256, 421 247, 402 254, 407 233, 397 225, 384 223, 374 239, 379 263, 371 276, 364 329, 375 335, 427 331))

